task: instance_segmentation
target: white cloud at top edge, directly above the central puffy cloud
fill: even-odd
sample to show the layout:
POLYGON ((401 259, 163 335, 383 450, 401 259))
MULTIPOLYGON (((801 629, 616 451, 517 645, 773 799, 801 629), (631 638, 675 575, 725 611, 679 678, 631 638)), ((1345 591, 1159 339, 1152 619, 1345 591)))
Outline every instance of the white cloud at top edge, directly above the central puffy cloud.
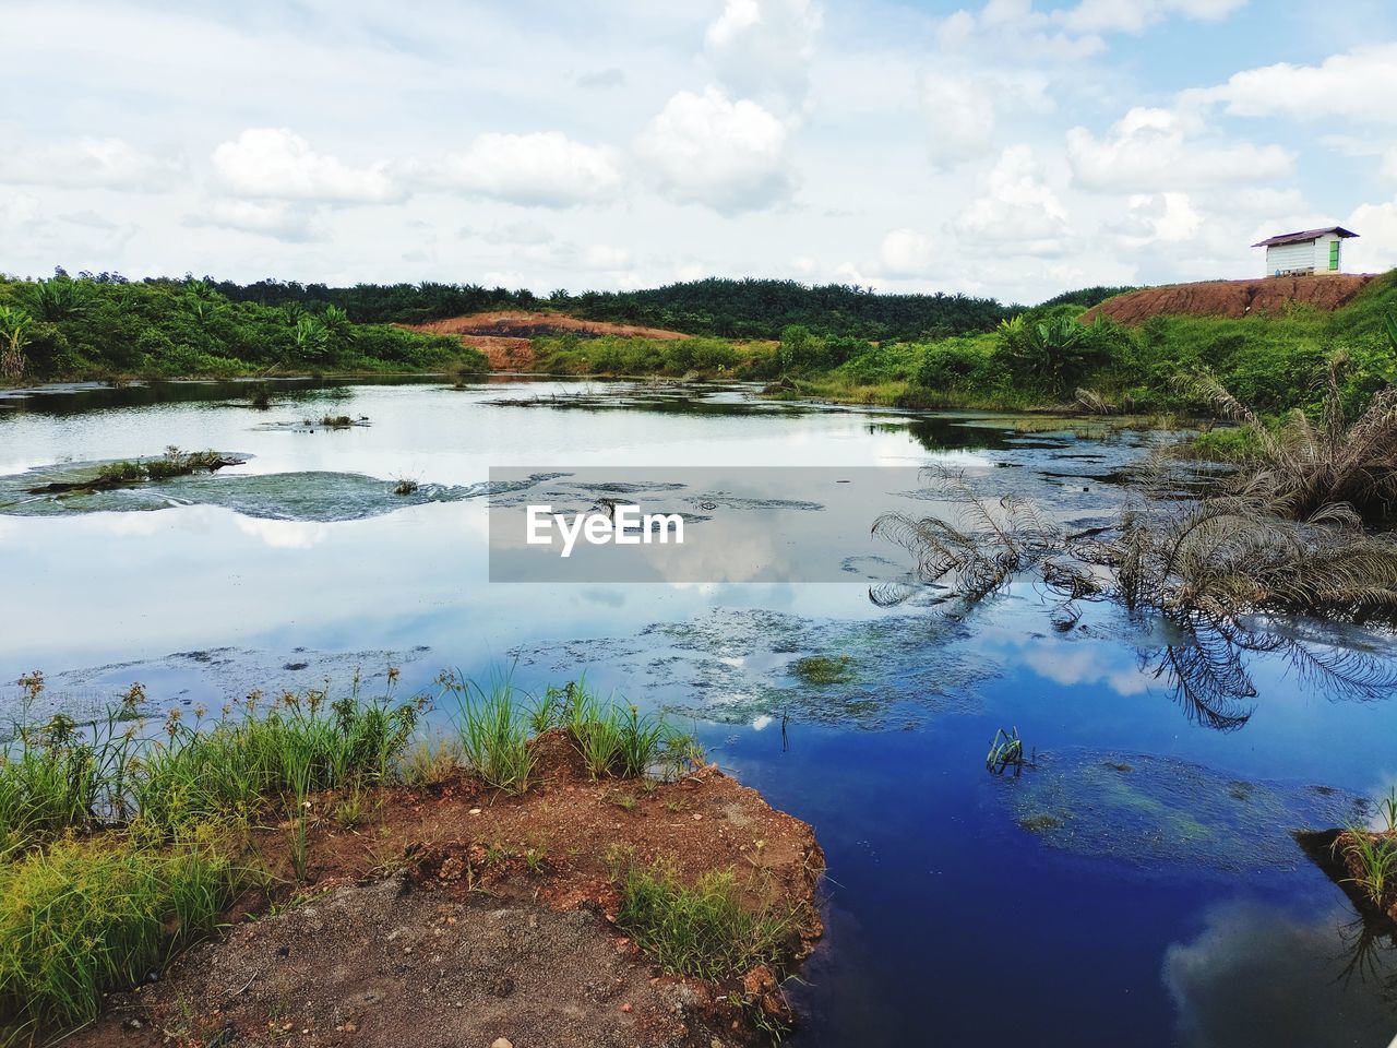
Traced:
POLYGON ((704 34, 704 52, 733 94, 796 106, 820 21, 810 0, 726 0, 704 34))

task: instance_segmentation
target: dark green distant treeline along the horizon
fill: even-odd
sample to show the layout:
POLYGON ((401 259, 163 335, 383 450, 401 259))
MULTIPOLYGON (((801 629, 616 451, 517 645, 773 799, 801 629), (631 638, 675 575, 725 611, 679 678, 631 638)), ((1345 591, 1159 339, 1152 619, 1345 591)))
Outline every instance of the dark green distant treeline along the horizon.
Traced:
MULTIPOLYGON (((844 284, 807 286, 796 281, 708 278, 645 291, 531 291, 478 284, 326 284, 264 279, 233 284, 207 278, 235 302, 275 306, 296 302, 307 309, 332 305, 359 323, 425 323, 499 309, 546 309, 587 320, 664 327, 719 338, 780 338, 798 324, 819 335, 875 342, 928 340, 992 331, 1000 320, 1023 313, 995 299, 967 295, 883 295, 844 284)), ((1094 306, 1118 288, 1070 292, 1073 302, 1094 306), (1098 296, 1099 293, 1099 296, 1098 296)), ((1060 296, 1066 302, 1066 296, 1060 296)))

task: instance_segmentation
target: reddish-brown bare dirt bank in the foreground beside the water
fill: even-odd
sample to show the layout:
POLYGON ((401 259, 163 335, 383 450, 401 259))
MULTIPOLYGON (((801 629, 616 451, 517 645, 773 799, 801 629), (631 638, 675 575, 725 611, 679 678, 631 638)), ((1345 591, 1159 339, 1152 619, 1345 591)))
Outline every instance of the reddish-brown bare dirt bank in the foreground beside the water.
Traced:
MULTIPOLYGON (((795 963, 823 933, 824 858, 810 827, 712 766, 658 787, 598 783, 560 734, 538 745, 542 783, 522 796, 462 774, 386 791, 352 829, 316 798, 309 889, 190 950, 158 982, 112 995, 102 1021, 68 1044, 750 1044, 750 1014, 785 1010, 771 974, 722 985, 662 975, 612 924, 612 869, 661 862, 686 883, 733 869, 746 904, 792 915, 784 949, 795 963)), ((258 848, 289 880, 286 840, 282 827, 258 848)))

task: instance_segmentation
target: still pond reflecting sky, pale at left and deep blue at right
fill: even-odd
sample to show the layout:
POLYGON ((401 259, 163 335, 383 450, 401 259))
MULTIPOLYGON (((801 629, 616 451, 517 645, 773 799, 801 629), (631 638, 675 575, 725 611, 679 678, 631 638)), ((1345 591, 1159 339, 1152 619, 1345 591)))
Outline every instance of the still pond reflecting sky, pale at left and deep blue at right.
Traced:
MULTIPOLYGON (((740 386, 274 393, 267 411, 226 383, 0 401, 0 679, 43 669, 46 700, 81 715, 133 681, 155 707, 217 710, 256 686, 346 687, 356 668, 374 682, 400 667, 414 689, 444 667, 527 689, 585 672, 675 710, 826 850, 828 933, 793 987, 799 1045, 1377 1045, 1397 1031, 1397 950, 1362 935, 1291 837, 1358 817, 1397 776, 1397 707, 1324 671, 1393 658, 1382 637, 1291 625, 1291 643, 1200 668, 1158 623, 1105 605, 1065 620, 1028 584, 965 612, 907 584, 905 555, 868 534, 890 509, 876 497, 856 531, 813 546, 820 581, 490 581, 492 467, 951 467, 1091 527, 1166 435, 770 402, 740 386), (327 415, 367 425, 314 425, 327 415), (246 461, 141 490, 29 493, 36 476, 170 444, 246 461), (395 495, 401 479, 416 490, 395 495), (898 598, 870 598, 886 587, 898 598), (802 678, 810 657, 834 671, 802 678), (1034 759, 1017 777, 986 771, 1000 728, 1034 759)), ((824 496, 809 502, 821 520, 824 496)), ((782 535, 799 516, 750 527, 782 535)), ((17 701, 0 689, 0 713, 17 701)))

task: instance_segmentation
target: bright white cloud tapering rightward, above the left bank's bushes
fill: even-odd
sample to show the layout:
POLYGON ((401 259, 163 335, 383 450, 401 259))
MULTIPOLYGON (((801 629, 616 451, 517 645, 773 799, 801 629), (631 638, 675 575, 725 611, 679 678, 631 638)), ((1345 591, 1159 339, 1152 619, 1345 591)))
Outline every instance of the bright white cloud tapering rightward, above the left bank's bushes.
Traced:
POLYGON ((402 197, 387 163, 352 168, 319 154, 285 127, 249 127, 214 150, 214 173, 231 193, 265 200, 387 203, 402 197))

